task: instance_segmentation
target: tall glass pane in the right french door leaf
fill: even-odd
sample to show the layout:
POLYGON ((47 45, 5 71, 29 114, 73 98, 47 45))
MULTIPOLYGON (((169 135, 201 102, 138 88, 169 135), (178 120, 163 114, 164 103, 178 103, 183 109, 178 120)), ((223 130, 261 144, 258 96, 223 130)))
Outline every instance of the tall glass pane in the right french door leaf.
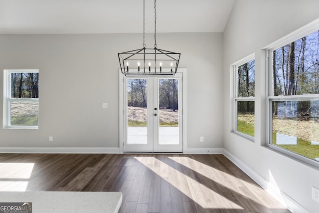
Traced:
POLYGON ((159 79, 159 144, 179 144, 178 79, 159 79))

